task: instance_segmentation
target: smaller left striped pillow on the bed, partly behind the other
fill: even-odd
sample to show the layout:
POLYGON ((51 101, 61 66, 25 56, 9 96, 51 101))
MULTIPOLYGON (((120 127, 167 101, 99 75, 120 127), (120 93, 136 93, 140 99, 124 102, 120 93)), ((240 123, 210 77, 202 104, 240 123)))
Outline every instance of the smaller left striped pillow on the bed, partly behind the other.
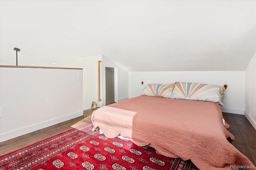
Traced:
POLYGON ((142 92, 147 96, 159 96, 164 98, 170 98, 175 84, 147 84, 142 92))

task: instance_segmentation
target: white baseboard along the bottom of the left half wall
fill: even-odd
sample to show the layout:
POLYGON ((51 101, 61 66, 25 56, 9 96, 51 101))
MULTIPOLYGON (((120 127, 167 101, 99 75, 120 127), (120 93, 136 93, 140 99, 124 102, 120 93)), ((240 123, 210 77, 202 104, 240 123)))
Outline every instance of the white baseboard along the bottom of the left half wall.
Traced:
POLYGON ((61 123, 61 122, 64 122, 64 121, 67 121, 70 119, 74 119, 74 118, 82 116, 82 115, 83 115, 83 111, 79 111, 76 113, 72 113, 69 115, 65 115, 62 117, 57 117, 55 119, 44 121, 42 123, 38 123, 35 125, 31 125, 31 126, 27 126, 27 127, 21 128, 21 129, 3 133, 0 135, 0 142, 7 141, 7 140, 15 138, 15 137, 19 137, 21 135, 25 135, 27 133, 31 133, 31 132, 37 131, 39 129, 43 129, 45 127, 56 125, 57 123, 61 123))

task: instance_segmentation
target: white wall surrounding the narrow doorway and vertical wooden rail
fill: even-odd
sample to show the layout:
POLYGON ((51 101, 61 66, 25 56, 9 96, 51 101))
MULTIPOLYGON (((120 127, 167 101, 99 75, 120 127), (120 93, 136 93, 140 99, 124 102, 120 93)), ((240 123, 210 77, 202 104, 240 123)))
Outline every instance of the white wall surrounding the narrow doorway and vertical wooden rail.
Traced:
POLYGON ((116 101, 128 99, 128 72, 126 70, 104 55, 82 57, 81 61, 84 75, 83 109, 90 108, 92 101, 96 102, 98 107, 106 105, 106 67, 114 68, 115 79, 117 79, 115 80, 115 100, 116 98, 116 101), (102 101, 100 102, 98 102, 98 60, 102 61, 100 64, 100 98, 102 101))

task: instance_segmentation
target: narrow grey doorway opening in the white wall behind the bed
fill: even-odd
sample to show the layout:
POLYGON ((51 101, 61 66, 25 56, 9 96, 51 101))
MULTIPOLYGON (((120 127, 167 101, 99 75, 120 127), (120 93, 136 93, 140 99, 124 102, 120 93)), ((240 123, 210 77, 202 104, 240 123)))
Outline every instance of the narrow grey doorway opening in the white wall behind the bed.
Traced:
POLYGON ((106 67, 106 105, 115 103, 115 71, 106 67))

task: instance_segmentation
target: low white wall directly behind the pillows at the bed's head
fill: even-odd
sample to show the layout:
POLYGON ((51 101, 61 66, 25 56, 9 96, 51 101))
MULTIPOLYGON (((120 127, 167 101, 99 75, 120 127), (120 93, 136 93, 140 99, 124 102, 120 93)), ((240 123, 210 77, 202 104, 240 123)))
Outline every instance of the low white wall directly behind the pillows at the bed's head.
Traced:
POLYGON ((144 85, 150 83, 169 84, 174 82, 198 82, 224 86, 227 80, 228 99, 222 111, 244 114, 244 71, 170 71, 170 72, 129 72, 129 98, 139 96, 144 85))

